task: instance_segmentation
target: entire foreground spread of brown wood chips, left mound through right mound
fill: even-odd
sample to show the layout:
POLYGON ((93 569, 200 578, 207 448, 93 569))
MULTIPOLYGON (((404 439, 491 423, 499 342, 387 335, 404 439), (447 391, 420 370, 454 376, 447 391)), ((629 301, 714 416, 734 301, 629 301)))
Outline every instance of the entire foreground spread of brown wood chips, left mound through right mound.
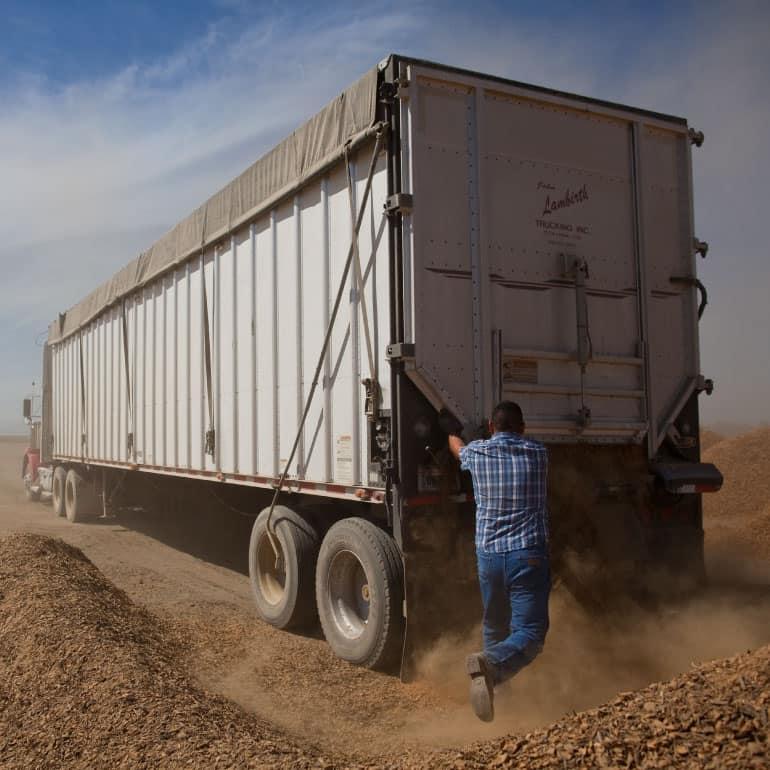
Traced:
POLYGON ((770 767, 770 647, 527 734, 363 761, 207 692, 184 667, 184 644, 78 549, 0 539, 0 768, 770 767))

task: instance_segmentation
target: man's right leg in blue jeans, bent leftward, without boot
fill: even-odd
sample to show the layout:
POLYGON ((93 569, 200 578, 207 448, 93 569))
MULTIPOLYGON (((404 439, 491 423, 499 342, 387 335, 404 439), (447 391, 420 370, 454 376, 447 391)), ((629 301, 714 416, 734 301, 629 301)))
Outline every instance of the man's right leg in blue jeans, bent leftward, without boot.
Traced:
POLYGON ((548 631, 548 557, 535 551, 511 551, 505 554, 505 573, 510 627, 505 639, 484 649, 495 684, 531 663, 542 651, 548 631))

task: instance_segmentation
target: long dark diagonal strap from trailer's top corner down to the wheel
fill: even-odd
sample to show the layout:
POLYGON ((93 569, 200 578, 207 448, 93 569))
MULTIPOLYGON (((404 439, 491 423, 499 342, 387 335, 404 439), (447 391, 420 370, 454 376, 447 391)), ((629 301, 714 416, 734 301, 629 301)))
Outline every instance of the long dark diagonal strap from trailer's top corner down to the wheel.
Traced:
MULTIPOLYGON (((297 453, 297 447, 299 446, 300 439, 302 437, 302 431, 305 428, 305 422, 307 421, 307 416, 310 412, 310 405, 313 401, 313 396, 315 395, 316 388, 318 387, 318 380, 321 376, 321 370, 323 369, 324 361, 326 359, 326 351, 329 348, 329 344, 331 343, 332 338, 332 331, 334 329, 334 323, 337 320, 337 313, 339 312, 340 305, 342 304, 342 297, 345 294, 345 285, 348 280, 348 274, 350 273, 350 267, 353 263, 353 258, 358 254, 358 233, 361 230, 361 225, 364 221, 364 211, 366 209, 367 201, 369 200, 369 194, 371 193, 372 189, 372 179, 374 178, 374 170, 377 166, 377 157, 380 154, 380 150, 382 148, 382 142, 383 142, 383 136, 384 136, 384 128, 380 128, 377 131, 376 139, 374 143, 374 150, 372 151, 372 159, 369 162, 369 172, 366 177, 366 187, 364 188, 364 194, 361 199, 361 205, 358 209, 358 216, 355 220, 355 227, 353 228, 353 235, 351 238, 350 248, 348 249, 348 256, 345 260, 345 269, 342 271, 342 277, 340 278, 340 284, 339 288, 337 289, 337 296, 334 300, 334 307, 332 308, 331 317, 329 318, 329 324, 326 328, 326 336, 324 337, 323 345, 321 346, 321 352, 318 356, 318 364, 316 365, 315 374, 313 375, 313 382, 310 386, 310 392, 308 393, 307 399, 305 400, 305 408, 302 411, 302 417, 299 421, 299 426, 297 428, 297 435, 294 438, 294 444, 292 445, 291 452, 289 454, 289 459, 286 461, 286 465, 284 466, 283 473, 281 473, 281 476, 278 480, 278 484, 275 486, 275 493, 273 494, 273 499, 270 503, 270 510, 267 514, 267 522, 265 524, 265 529, 267 532, 267 538, 270 541, 270 545, 273 549, 273 553, 275 554, 275 563, 276 566, 278 566, 281 563, 281 551, 278 547, 278 543, 275 539, 275 532, 272 528, 272 518, 273 518, 273 511, 275 510, 275 505, 278 502, 278 497, 281 494, 281 490, 283 489, 283 485, 286 483, 286 477, 289 474, 289 469, 291 468, 292 462, 294 462, 294 456, 297 453)), ((348 168, 348 174, 350 174, 350 166, 347 163, 347 148, 345 149, 345 163, 348 168)), ((359 265, 360 270, 360 265, 359 265)))

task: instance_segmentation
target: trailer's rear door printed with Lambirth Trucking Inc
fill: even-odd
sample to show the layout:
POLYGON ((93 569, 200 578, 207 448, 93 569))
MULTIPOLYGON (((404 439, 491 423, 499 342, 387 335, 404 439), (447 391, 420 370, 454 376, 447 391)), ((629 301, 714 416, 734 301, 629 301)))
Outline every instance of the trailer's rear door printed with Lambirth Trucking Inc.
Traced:
POLYGON ((410 64, 407 334, 434 404, 654 452, 698 375, 687 128, 410 64))

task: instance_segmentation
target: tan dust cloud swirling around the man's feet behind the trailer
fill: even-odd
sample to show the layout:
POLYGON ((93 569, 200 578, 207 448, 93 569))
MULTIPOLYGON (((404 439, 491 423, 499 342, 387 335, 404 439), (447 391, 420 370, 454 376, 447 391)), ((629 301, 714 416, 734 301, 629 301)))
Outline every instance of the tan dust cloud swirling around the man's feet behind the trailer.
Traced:
MULTIPOLYGON (((733 556, 727 563, 741 561, 740 554, 733 556)), ((601 619, 557 587, 545 649, 498 689, 492 725, 478 722, 467 704, 464 656, 480 648, 477 627, 466 637, 440 640, 419 662, 420 677, 454 707, 411 729, 426 743, 444 746, 529 732, 621 692, 669 679, 695 663, 767 644, 770 579, 762 585, 756 577, 732 570, 723 579, 712 572, 709 587, 688 601, 657 611, 629 602, 601 619)))

